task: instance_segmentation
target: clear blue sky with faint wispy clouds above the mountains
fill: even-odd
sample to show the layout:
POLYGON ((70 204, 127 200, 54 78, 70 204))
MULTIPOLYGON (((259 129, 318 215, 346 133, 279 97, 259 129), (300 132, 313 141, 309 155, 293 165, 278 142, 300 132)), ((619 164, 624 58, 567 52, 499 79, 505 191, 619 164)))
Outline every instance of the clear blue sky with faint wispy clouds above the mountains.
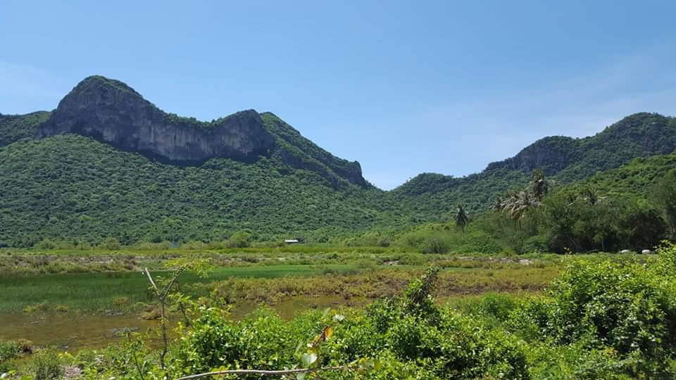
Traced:
POLYGON ((123 80, 201 120, 270 110, 391 189, 676 115, 676 1, 0 3, 0 113, 123 80))

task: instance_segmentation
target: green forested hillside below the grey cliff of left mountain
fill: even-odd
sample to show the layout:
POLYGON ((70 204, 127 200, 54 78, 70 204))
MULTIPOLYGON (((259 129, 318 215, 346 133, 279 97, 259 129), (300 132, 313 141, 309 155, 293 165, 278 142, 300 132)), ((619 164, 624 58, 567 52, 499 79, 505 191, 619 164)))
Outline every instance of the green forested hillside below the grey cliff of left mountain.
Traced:
POLYGON ((317 172, 267 158, 180 167, 64 135, 0 148, 0 242, 225 239, 239 229, 320 239, 392 220, 382 194, 338 191, 317 172))

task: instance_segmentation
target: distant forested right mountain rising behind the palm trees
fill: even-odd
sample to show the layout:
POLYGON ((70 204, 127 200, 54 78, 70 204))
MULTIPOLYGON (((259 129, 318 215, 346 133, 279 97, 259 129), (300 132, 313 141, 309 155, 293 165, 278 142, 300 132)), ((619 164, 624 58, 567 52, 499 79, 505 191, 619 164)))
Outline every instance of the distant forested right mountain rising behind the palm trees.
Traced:
POLYGON ((479 213, 509 189, 526 186, 542 169, 556 184, 568 184, 630 163, 634 158, 676 151, 676 118, 636 113, 583 139, 545 137, 516 156, 490 163, 483 172, 454 178, 423 173, 394 189, 394 196, 417 215, 449 213, 457 203, 479 213))

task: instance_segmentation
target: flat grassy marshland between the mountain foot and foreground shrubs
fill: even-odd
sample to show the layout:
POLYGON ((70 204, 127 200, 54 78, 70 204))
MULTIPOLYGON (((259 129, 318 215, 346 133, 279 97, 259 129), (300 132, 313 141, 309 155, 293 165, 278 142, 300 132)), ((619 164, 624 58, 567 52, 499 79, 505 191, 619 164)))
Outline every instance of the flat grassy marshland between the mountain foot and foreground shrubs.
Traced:
POLYGON ((544 289, 566 262, 651 260, 649 256, 596 254, 585 256, 432 255, 370 249, 311 251, 284 247, 279 251, 8 251, 0 254, 0 313, 8 312, 134 312, 154 300, 142 268, 154 274, 167 260, 208 258, 208 278, 182 275, 182 291, 191 296, 216 295, 237 300, 275 303, 294 296, 378 298, 397 293, 425 267, 442 268, 439 296, 485 292, 535 292, 544 289))

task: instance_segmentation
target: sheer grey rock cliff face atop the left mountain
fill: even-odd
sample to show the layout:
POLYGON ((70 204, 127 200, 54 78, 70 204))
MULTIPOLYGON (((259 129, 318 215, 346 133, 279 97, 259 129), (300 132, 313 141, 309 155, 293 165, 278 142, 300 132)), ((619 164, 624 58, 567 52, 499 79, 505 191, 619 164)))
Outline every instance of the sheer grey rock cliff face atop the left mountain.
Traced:
POLYGON ((275 144, 255 110, 213 122, 165 113, 123 82, 88 77, 58 103, 37 137, 75 133, 171 161, 252 160, 275 144))

